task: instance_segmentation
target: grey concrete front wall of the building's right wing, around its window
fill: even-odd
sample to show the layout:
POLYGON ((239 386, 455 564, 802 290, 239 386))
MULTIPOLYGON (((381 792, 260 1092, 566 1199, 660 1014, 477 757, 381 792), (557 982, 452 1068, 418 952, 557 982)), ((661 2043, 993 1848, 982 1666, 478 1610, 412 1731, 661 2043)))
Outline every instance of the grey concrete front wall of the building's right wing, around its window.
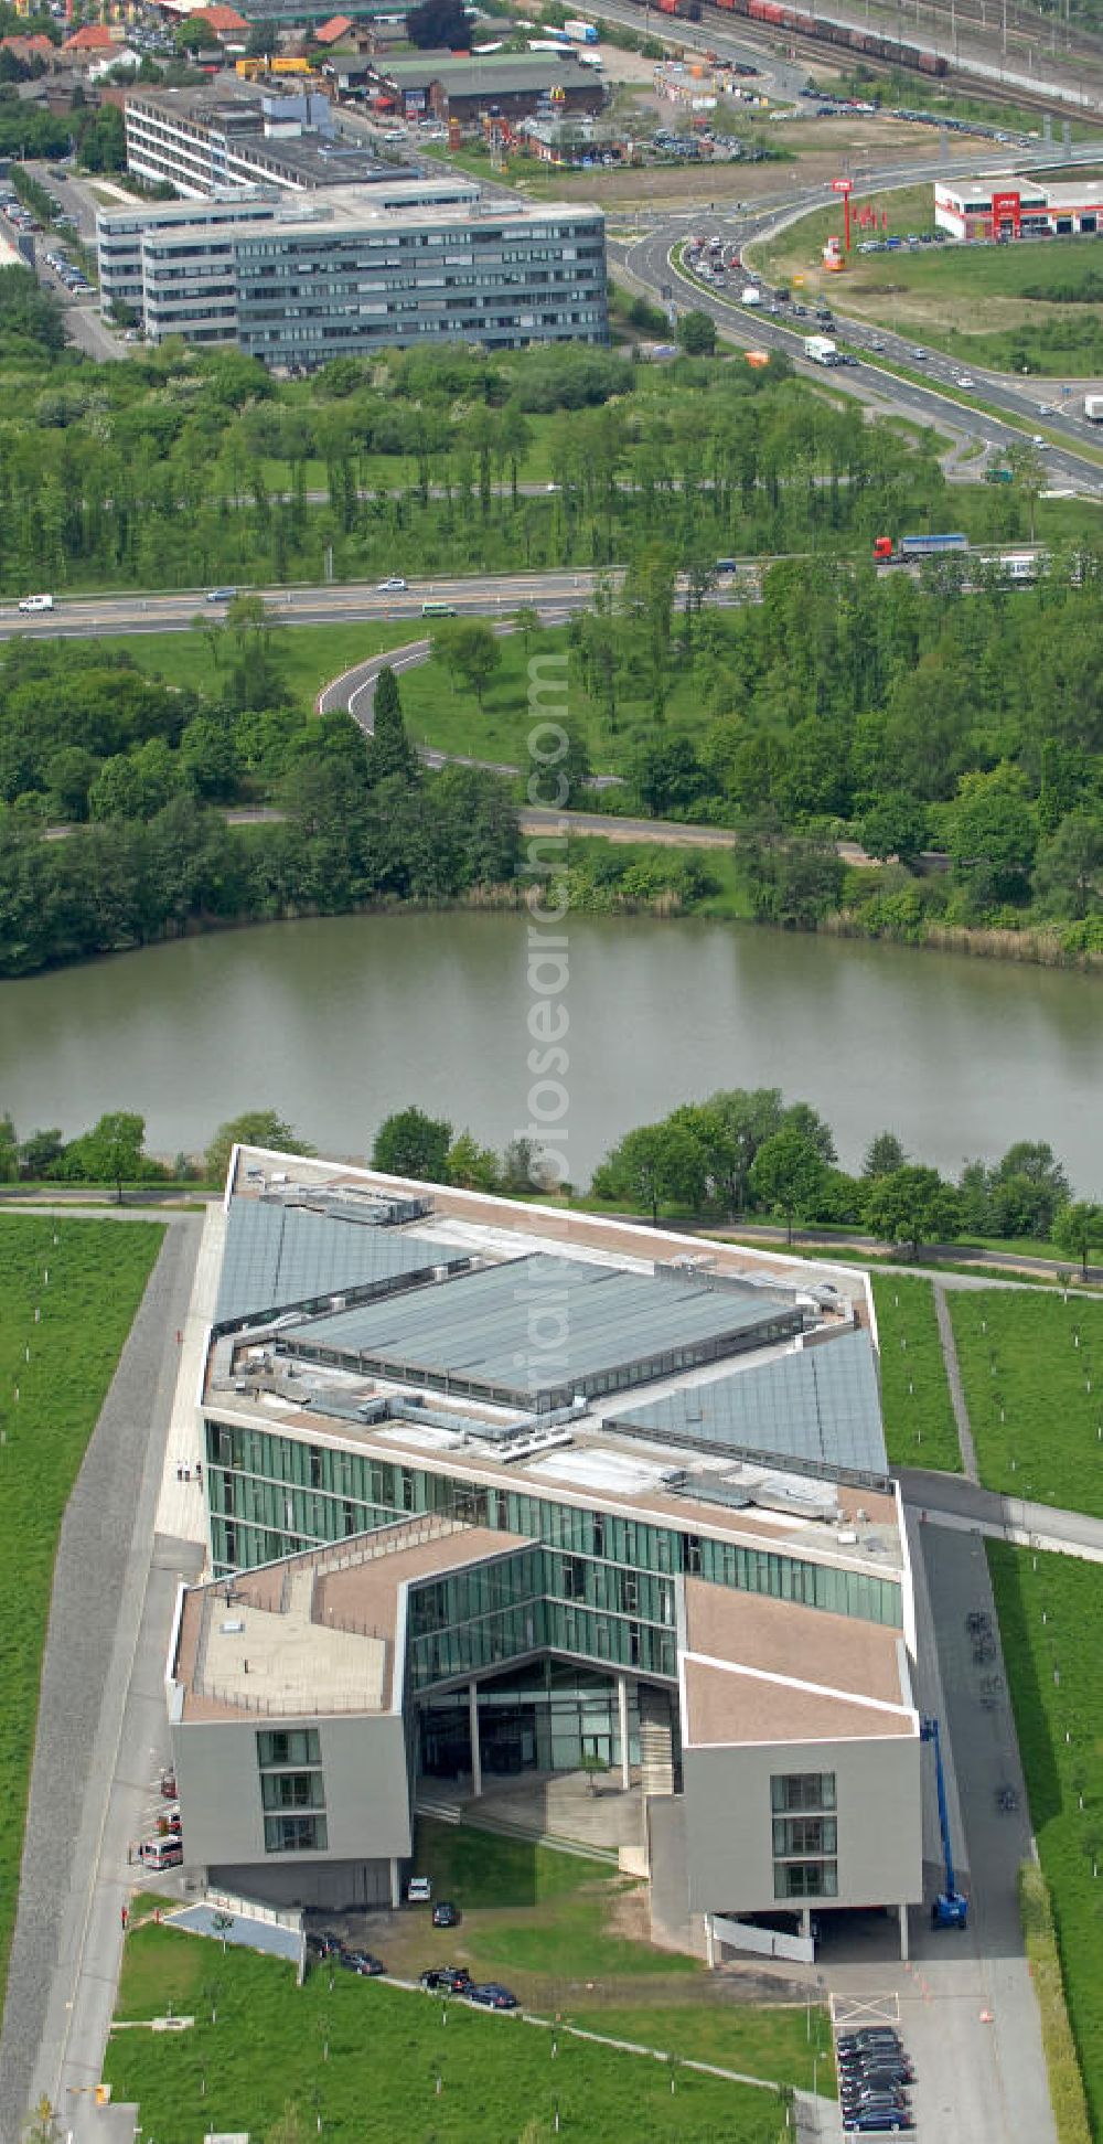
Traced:
POLYGON ((891 1906, 923 1897, 919 1737, 683 1750, 681 1765, 694 1912, 891 1906), (775 1897, 771 1777, 780 1773, 835 1773, 835 1897, 775 1897))

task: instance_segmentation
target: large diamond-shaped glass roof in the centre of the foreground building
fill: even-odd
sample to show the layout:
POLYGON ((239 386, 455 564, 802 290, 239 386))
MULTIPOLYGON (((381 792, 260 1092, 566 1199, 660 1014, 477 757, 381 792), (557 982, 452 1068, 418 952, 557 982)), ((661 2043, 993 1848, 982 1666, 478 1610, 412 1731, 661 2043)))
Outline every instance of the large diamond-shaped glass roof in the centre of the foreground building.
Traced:
POLYGON ((801 1327, 790 1301, 709 1274, 632 1274, 544 1252, 315 1319, 291 1349, 518 1400, 613 1389, 801 1327))

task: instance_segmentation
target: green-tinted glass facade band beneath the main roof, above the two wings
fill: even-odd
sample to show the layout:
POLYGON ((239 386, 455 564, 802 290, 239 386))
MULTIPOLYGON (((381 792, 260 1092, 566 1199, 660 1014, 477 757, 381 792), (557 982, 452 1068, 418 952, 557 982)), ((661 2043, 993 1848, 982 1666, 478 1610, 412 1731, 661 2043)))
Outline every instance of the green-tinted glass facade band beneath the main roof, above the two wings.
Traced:
MULTIPOLYGON (((578 1509, 505 1484, 437 1475, 401 1460, 308 1445, 272 1430, 208 1421, 206 1445, 216 1576, 371 1533, 415 1512, 439 1512, 540 1542, 548 1550, 544 1597, 559 1602, 563 1610, 572 1608, 576 1629, 591 1640, 574 1647, 568 1638, 548 1636, 544 1642, 563 1642, 568 1651, 591 1651, 593 1657, 623 1666, 636 1666, 634 1640, 630 1632, 606 1629, 602 1636, 602 1623, 623 1619, 625 1625, 664 1625, 666 1593, 651 1580, 681 1572, 739 1593, 765 1593, 895 1629, 904 1621, 900 1584, 867 1572, 655 1527, 621 1512, 578 1509), (628 1653, 606 1653, 602 1642, 623 1642, 628 1653)), ((557 1623, 557 1629, 565 1627, 565 1621, 557 1623)), ((465 1668, 450 1672, 463 1674, 465 1668)))

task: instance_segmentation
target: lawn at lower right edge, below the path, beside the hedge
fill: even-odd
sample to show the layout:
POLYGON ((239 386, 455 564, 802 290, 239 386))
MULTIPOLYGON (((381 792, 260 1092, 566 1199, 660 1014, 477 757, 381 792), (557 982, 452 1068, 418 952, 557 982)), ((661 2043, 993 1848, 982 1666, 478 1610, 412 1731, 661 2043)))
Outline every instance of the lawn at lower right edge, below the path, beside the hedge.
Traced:
MULTIPOLYGON (((1090 2133, 1103 2133, 1103 1569, 987 1544, 1090 2133), (1045 1621, 1043 1621, 1045 1614, 1045 1621), (1094 1632, 1094 1636, 1092 1636, 1094 1632), (1060 1674, 1060 1683, 1054 1681, 1060 1674), (1067 1741, 1067 1737, 1071 1737, 1067 1741), (1084 1799, 1084 1807, 1079 1801, 1084 1799)), ((1075 2082, 1075 2080, 1073 2080, 1075 2082)), ((1062 2099, 1069 2080, 1060 2080, 1062 2099)), ((1084 2123, 1062 2127, 1069 2144, 1084 2123)))

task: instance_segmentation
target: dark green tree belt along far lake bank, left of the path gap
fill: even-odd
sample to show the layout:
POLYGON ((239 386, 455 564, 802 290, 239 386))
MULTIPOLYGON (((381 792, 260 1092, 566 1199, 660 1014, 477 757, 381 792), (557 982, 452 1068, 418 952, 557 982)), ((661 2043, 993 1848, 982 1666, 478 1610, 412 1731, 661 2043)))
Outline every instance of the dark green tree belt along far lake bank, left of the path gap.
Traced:
MULTIPOLYGON (((163 701, 161 688, 154 710, 163 701)), ((41 813, 21 810, 24 798, 0 810, 0 976, 218 924, 463 900, 516 881, 510 787, 475 768, 428 774, 407 738, 392 671, 377 686, 371 740, 345 712, 306 727, 298 718, 293 729, 276 821, 229 825, 193 787, 161 800, 156 776, 180 753, 158 735, 105 761, 96 780, 111 778, 116 808, 101 823, 45 840, 41 813)), ((54 759, 51 768, 56 780, 54 759)), ((73 778, 86 772, 81 761, 73 778)), ((88 793, 99 793, 96 783, 88 793)))

